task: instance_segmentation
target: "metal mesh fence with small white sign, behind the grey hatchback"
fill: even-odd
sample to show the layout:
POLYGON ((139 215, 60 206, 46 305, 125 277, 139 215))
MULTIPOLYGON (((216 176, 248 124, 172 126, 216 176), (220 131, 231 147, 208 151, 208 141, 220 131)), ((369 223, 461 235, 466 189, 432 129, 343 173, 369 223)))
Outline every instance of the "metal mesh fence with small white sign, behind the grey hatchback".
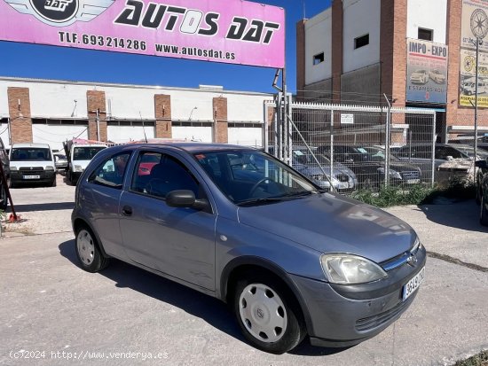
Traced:
POLYGON ((362 105, 277 104, 270 130, 275 155, 324 188, 378 190, 432 185, 436 113, 362 105))

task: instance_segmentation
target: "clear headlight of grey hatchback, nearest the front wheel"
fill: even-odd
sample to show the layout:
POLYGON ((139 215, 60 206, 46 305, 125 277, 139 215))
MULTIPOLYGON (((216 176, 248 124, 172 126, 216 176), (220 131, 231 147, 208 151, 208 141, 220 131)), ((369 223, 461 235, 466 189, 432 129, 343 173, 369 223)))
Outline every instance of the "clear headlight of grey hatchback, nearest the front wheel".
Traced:
POLYGON ((328 282, 332 284, 366 284, 388 276, 373 261, 353 254, 323 254, 320 263, 328 282))

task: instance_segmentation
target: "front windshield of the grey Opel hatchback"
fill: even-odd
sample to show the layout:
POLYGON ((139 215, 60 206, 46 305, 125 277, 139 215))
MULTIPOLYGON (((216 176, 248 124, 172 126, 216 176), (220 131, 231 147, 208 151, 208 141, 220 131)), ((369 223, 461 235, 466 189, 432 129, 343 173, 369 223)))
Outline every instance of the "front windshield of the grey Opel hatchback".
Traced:
POLYGON ((267 204, 322 192, 291 167, 264 152, 198 152, 194 158, 237 205, 267 204))

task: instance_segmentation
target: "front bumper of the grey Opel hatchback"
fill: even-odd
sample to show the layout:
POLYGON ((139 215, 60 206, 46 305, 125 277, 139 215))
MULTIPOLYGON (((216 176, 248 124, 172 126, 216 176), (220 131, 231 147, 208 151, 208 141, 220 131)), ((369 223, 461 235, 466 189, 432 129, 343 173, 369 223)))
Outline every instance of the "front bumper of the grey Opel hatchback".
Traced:
POLYGON ((303 276, 291 276, 306 311, 311 344, 320 347, 350 347, 387 328, 412 304, 417 289, 403 300, 404 285, 425 266, 425 249, 415 267, 404 264, 389 271, 385 285, 336 285, 303 276), (406 276, 405 276, 406 274, 406 276))

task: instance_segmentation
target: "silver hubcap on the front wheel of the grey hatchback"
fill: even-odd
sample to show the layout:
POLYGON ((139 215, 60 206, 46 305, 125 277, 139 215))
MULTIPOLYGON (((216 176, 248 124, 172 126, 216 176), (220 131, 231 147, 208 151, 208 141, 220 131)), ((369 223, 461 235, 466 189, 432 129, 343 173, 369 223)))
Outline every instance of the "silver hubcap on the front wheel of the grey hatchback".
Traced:
POLYGON ((287 311, 277 292, 265 284, 249 284, 239 298, 240 320, 264 343, 277 342, 287 330, 287 311))

